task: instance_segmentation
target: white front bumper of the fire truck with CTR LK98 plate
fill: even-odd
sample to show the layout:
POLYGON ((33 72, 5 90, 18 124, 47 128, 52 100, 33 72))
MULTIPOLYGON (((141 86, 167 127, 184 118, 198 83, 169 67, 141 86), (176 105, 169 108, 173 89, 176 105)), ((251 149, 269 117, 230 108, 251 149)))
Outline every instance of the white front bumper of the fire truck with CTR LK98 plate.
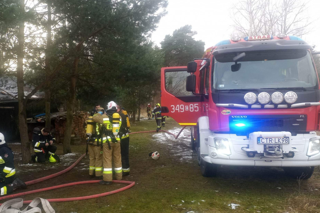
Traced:
POLYGON ((205 149, 201 147, 201 157, 213 164, 268 167, 320 165, 320 137, 315 132, 294 136, 290 132, 253 132, 249 138, 213 133, 205 139, 205 145, 205 149), (282 143, 275 144, 279 140, 282 143))

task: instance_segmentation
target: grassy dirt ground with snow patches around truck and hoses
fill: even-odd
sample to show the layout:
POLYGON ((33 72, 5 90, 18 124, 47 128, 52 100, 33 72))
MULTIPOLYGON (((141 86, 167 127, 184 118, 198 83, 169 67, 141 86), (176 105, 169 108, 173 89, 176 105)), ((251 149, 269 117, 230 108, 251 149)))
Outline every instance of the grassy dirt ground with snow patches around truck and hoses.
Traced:
MULTIPOLYGON (((131 131, 155 130, 155 120, 133 123, 131 131)), ((166 127, 175 134, 181 127, 167 118, 166 127)), ((189 130, 186 128, 185 132, 189 130)), ((85 152, 85 143, 71 146, 72 154, 63 155, 62 145, 56 164, 21 164, 20 144, 9 144, 15 154, 18 176, 29 181, 67 168, 85 152)), ((28 186, 26 190, 92 180, 88 177, 89 159, 62 176, 28 186)), ((136 185, 123 192, 85 201, 51 203, 56 212, 320 212, 320 172, 316 169, 309 180, 292 180, 279 168, 221 167, 219 176, 202 177, 196 154, 190 149, 190 138, 174 139, 163 132, 130 135, 130 176, 123 180, 136 185), (159 160, 148 153, 158 151, 159 160)), ((86 196, 112 191, 123 184, 76 185, 23 196, 45 199, 86 196)), ((1 201, 3 202, 3 201, 1 201)))

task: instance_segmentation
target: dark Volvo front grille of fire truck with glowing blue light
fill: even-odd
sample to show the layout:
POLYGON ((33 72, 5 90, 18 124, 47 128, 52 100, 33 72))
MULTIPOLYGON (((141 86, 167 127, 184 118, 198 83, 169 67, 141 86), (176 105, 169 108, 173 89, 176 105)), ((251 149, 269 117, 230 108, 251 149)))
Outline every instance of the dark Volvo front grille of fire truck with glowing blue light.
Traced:
POLYGON ((231 132, 304 132, 307 115, 229 115, 229 127, 231 132))

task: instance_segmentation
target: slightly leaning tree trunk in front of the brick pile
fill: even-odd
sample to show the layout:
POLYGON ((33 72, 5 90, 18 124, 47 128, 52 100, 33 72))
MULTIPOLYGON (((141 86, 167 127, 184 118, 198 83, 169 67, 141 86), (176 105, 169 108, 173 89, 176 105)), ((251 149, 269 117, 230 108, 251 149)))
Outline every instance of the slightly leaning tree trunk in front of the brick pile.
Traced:
MULTIPOLYGON (((79 53, 79 50, 76 52, 79 53)), ((70 147, 70 140, 71 140, 71 133, 72 133, 72 123, 73 123, 73 108, 76 102, 76 75, 78 73, 78 62, 79 56, 76 56, 75 60, 73 61, 72 67, 72 75, 70 77, 70 98, 67 103, 67 121, 66 121, 66 130, 64 132, 63 138, 63 153, 71 153, 70 147)))

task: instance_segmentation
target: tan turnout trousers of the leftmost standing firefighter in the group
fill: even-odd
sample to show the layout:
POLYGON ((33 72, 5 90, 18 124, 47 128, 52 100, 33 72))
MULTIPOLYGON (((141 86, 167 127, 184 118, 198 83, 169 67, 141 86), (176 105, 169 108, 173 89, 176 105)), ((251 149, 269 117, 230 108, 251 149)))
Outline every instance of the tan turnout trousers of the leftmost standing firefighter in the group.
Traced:
POLYGON ((100 177, 102 175, 102 147, 88 144, 89 150, 89 175, 100 177))

